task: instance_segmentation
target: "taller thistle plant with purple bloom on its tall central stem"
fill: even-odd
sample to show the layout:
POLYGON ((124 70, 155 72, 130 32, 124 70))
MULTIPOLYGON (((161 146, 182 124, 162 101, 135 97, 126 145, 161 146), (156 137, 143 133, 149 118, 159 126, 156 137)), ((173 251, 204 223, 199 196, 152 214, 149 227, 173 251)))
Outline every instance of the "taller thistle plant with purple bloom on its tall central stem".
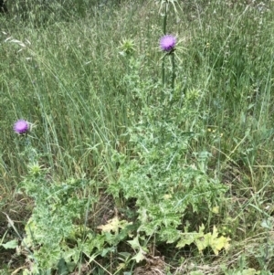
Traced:
MULTIPOLYGON (((198 133, 184 130, 184 117, 192 110, 185 110, 180 102, 173 100, 174 94, 179 94, 180 90, 175 86, 177 38, 166 35, 167 7, 170 4, 175 5, 175 1, 161 2, 164 10, 164 36, 160 38, 162 83, 141 77, 140 71, 146 76, 150 75, 149 69, 142 67, 142 61, 131 59, 131 70, 123 83, 132 93, 132 98, 141 102, 141 111, 128 130, 132 143, 131 158, 124 153, 112 154, 112 162, 119 164, 119 169, 118 178, 109 185, 108 192, 114 196, 121 211, 128 209, 131 213, 128 218, 135 217, 134 225, 138 227, 135 238, 141 240, 142 236, 143 240, 145 236, 144 247, 133 258, 138 260, 145 259, 145 246, 150 239, 156 245, 158 241, 178 243, 180 248, 195 242, 195 238, 192 242, 185 239, 187 232, 194 227, 182 231, 186 217, 195 215, 195 222, 198 217, 201 220, 202 217, 209 218, 213 213, 211 210, 221 204, 227 190, 217 178, 207 175, 210 154, 195 153, 197 157, 193 157, 190 143, 198 133), (166 57, 172 61, 170 79, 165 75, 166 57), (128 202, 132 199, 135 205, 131 210, 128 202)), ((201 231, 201 234, 204 233, 201 231)), ((216 232, 214 236, 216 238, 216 232)))

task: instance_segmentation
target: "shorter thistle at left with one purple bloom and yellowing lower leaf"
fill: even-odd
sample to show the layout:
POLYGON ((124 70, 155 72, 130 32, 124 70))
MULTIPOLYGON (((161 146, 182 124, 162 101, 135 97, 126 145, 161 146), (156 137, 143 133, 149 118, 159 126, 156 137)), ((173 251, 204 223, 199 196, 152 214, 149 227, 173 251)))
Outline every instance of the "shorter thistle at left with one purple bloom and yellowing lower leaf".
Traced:
POLYGON ((28 196, 33 202, 24 237, 14 227, 20 238, 16 251, 30 263, 24 274, 70 274, 80 270, 84 259, 90 258, 92 262, 98 255, 107 257, 127 237, 131 223, 113 218, 111 225, 89 227, 90 208, 100 198, 99 184, 84 177, 55 180, 50 167, 40 164, 41 154, 28 141, 26 133, 30 126, 24 120, 14 125, 14 131, 26 138, 23 145, 28 157, 26 175, 17 185, 16 193, 28 196))

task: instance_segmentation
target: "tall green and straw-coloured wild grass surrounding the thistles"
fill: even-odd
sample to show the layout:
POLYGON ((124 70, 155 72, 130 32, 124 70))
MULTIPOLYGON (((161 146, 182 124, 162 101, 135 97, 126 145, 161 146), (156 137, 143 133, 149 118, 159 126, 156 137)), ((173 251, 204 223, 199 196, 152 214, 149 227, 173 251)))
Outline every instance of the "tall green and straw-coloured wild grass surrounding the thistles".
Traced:
MULTIPOLYGON (((21 18, 24 6, 9 6, 10 14, 0 16, 3 237, 9 232, 9 238, 17 238, 3 213, 23 232, 33 209, 29 197, 16 195, 28 164, 25 139, 12 130, 16 119, 34 123, 29 142, 40 153, 39 163, 49 178, 64 182, 85 177, 100 183, 93 211, 98 213, 94 219, 101 219, 109 215, 108 207, 115 208, 111 196, 104 194, 117 176, 111 150, 131 155, 125 132, 140 115, 139 103, 123 82, 128 65, 120 54, 122 41, 132 39, 134 57, 142 57, 141 78, 162 77, 158 41, 163 18, 158 5, 76 2, 75 10, 54 5, 55 16, 30 9, 21 18)), ((167 19, 168 32, 179 39, 176 85, 185 96, 192 91, 200 99, 190 107, 183 127, 201 133, 190 152, 210 153, 209 175, 229 187, 214 223, 231 238, 231 248, 216 257, 210 251, 201 256, 192 247, 174 255, 163 246, 159 255, 171 265, 168 274, 247 274, 243 270, 248 269, 254 269, 248 274, 272 274, 274 3, 214 0, 180 5, 178 14, 171 9, 167 19)), ((24 265, 22 257, 13 261, 14 254, 12 249, 0 250, 1 274, 8 263, 6 274, 24 265)), ((113 257, 92 274, 118 274, 113 267, 119 255, 113 257)), ((134 270, 131 265, 128 269, 134 270)))

